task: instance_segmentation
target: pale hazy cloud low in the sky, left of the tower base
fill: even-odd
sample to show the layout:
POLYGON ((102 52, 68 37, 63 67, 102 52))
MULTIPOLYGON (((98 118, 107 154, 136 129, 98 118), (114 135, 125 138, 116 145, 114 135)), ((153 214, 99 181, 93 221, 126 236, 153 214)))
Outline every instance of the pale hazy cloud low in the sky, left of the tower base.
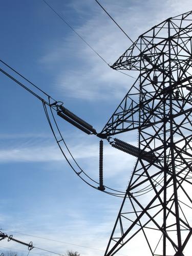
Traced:
MULTIPOLYGON (((86 208, 84 207, 79 208, 74 204, 74 208, 73 206, 68 208, 61 204, 57 207, 57 210, 50 209, 50 211, 47 212, 47 208, 42 208, 40 212, 38 211, 38 214, 31 209, 30 212, 26 212, 25 214, 28 218, 23 220, 22 218, 17 217, 16 223, 14 223, 14 217, 12 216, 12 218, 9 218, 8 224, 3 227, 11 231, 32 234, 37 237, 53 239, 63 243, 29 237, 11 231, 2 231, 8 234, 13 234, 14 238, 25 242, 33 241, 33 245, 36 247, 45 248, 58 253, 65 253, 66 250, 69 249, 77 250, 81 255, 103 255, 104 252, 102 250, 105 250, 105 245, 113 225, 113 218, 111 217, 116 213, 117 206, 117 202, 110 204, 109 207, 108 204, 101 201, 99 208, 96 210, 96 214, 99 214, 99 209, 102 209, 103 216, 105 217, 103 220, 102 218, 99 218, 100 222, 98 222, 97 218, 95 219, 95 222, 93 222, 93 217, 90 216, 88 218, 86 208), (65 214, 62 215, 62 218, 60 212, 61 209, 65 212, 65 214), (51 219, 52 221, 50 223, 51 219)), ((23 245, 17 245, 13 242, 7 244, 6 240, 2 241, 1 245, 10 246, 13 250, 14 248, 27 250, 23 245)), ((31 253, 33 252, 47 254, 47 252, 35 248, 31 251, 31 253)))

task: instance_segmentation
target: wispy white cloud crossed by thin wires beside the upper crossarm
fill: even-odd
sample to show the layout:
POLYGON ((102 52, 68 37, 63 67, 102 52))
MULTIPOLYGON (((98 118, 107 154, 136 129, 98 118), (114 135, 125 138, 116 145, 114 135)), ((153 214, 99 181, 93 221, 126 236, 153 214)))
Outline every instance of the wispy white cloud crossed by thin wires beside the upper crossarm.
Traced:
MULTIPOLYGON (((82 15, 85 7, 89 7, 90 12, 93 12, 93 15, 89 18, 86 17, 83 25, 76 30, 107 62, 113 63, 132 44, 99 6, 90 5, 89 1, 83 4, 75 1, 71 6, 77 15, 82 15)), ((176 0, 164 0, 161 3, 148 0, 142 3, 131 1, 129 5, 125 1, 121 3, 107 1, 103 3, 103 6, 127 34, 135 40, 141 33, 162 22, 170 15, 175 16, 188 11, 191 4, 188 0, 185 1, 185 5, 176 0)), ((63 60, 65 54, 67 56, 70 54, 73 60, 76 59, 77 64, 74 63, 73 69, 66 69, 66 66, 65 69, 60 69, 56 77, 58 90, 70 98, 91 101, 122 98, 134 79, 110 70, 88 46, 81 41, 78 43, 77 39, 79 38, 72 33, 67 40, 60 43, 59 48, 51 49, 41 59, 45 65, 56 61, 60 63, 60 59, 63 60), (76 50, 74 51, 74 49, 76 50)), ((134 72, 128 74, 138 75, 134 72)))

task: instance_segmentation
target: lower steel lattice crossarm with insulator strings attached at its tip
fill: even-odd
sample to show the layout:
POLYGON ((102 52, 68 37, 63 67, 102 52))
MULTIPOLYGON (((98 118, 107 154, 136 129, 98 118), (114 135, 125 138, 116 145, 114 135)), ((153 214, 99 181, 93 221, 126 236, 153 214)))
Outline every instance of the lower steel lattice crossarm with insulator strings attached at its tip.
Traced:
MULTIPOLYGON (((155 108, 150 109, 148 108, 148 105, 155 101, 157 98, 161 98, 163 94, 170 94, 171 91, 174 91, 176 87, 181 86, 185 87, 188 91, 191 92, 192 87, 188 87, 186 85, 192 85, 191 84, 192 76, 185 77, 183 79, 180 79, 178 81, 173 81, 172 87, 169 86, 166 87, 164 90, 157 90, 156 93, 153 95, 153 97, 141 102, 136 103, 135 100, 131 99, 131 94, 127 94, 124 99, 119 104, 118 108, 108 121, 108 123, 105 124, 103 130, 101 133, 99 133, 97 136, 106 138, 108 136, 112 136, 115 134, 124 133, 127 131, 132 131, 139 128, 144 127, 150 127, 152 125, 155 125, 157 123, 161 123, 165 121, 164 117, 159 118, 157 121, 152 121, 152 117, 155 116, 156 110, 159 108, 159 105, 157 104, 155 108), (185 83, 185 84, 184 84, 185 83), (184 85, 183 85, 184 84, 184 85), (190 89, 191 88, 191 89, 190 89), (146 114, 145 119, 142 123, 138 122, 138 112, 140 108, 146 109, 148 113, 146 114)), ((190 93, 189 93, 190 94, 190 93)), ((168 98, 167 98, 168 99, 168 98)), ((183 101, 187 101, 188 99, 183 99, 183 101)), ((190 102, 191 103, 191 102, 190 102)), ((188 109, 180 109, 178 113, 171 116, 171 118, 178 117, 180 115, 183 115, 187 112, 191 112, 192 108, 188 109)), ((166 116, 166 121, 170 119, 170 115, 166 116)))

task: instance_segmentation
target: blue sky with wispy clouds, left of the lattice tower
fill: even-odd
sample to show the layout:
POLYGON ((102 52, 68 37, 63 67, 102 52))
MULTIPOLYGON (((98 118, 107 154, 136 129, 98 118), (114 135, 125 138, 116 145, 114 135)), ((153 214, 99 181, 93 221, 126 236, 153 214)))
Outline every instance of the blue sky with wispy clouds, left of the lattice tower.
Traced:
MULTIPOLYGON (((49 0, 49 3, 108 63, 113 63, 130 46, 131 42, 95 1, 49 0)), ((133 40, 162 20, 191 10, 192 6, 189 0, 100 3, 133 40)), ((0 23, 1 59, 53 98, 63 101, 66 108, 99 132, 134 79, 111 70, 41 0, 1 0, 0 23)), ((41 102, 3 74, 0 77, 0 226, 66 242, 13 233, 23 241, 33 241, 34 246, 58 253, 73 249, 84 256, 103 255, 102 251, 77 245, 105 249, 121 199, 94 190, 78 179, 54 141, 41 102)), ((78 162, 98 179, 99 139, 57 120, 78 162)), ((127 142, 134 144, 135 140, 135 134, 126 135, 127 142)), ((125 189, 135 159, 104 146, 105 182, 125 189)), ((2 251, 3 247, 27 251, 13 242, 0 243, 2 251)), ((33 252, 46 254, 37 249, 33 252)), ((122 254, 129 255, 126 249, 122 254)))

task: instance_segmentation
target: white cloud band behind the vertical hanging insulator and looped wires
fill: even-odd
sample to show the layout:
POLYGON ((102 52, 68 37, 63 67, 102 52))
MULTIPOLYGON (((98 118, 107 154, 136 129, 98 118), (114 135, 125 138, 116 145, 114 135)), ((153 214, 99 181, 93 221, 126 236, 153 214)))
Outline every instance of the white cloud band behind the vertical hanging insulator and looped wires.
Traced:
MULTIPOLYGON (((27 136, 27 135, 26 135, 27 136)), ((25 136, 24 136, 25 137, 25 136)), ((92 178, 98 179, 99 166, 99 143, 98 140, 93 140, 92 137, 86 136, 72 136, 72 139, 67 139, 67 144, 80 167, 92 178)), ((134 144, 134 143, 132 143, 134 144)), ((78 167, 74 164, 65 145, 60 142, 63 152, 66 154, 69 161, 73 164, 76 171, 79 172, 78 167)), ((104 142, 104 179, 106 185, 111 182, 115 186, 121 184, 121 189, 124 190, 127 185, 127 177, 130 176, 136 158, 116 150, 108 142, 104 142), (119 175, 121 174, 121 175, 119 175), (116 177, 115 181, 112 181, 116 177)), ((59 147, 54 140, 45 138, 32 138, 23 143, 15 140, 10 141, 10 145, 6 148, 0 148, 0 162, 60 162, 66 165, 67 161, 62 155, 59 147)), ((51 164, 52 165, 52 164, 51 164)), ((50 165, 50 166, 51 166, 50 165)), ((68 166, 68 165, 67 165, 68 166)), ((70 167, 69 167, 70 168, 70 167)))

